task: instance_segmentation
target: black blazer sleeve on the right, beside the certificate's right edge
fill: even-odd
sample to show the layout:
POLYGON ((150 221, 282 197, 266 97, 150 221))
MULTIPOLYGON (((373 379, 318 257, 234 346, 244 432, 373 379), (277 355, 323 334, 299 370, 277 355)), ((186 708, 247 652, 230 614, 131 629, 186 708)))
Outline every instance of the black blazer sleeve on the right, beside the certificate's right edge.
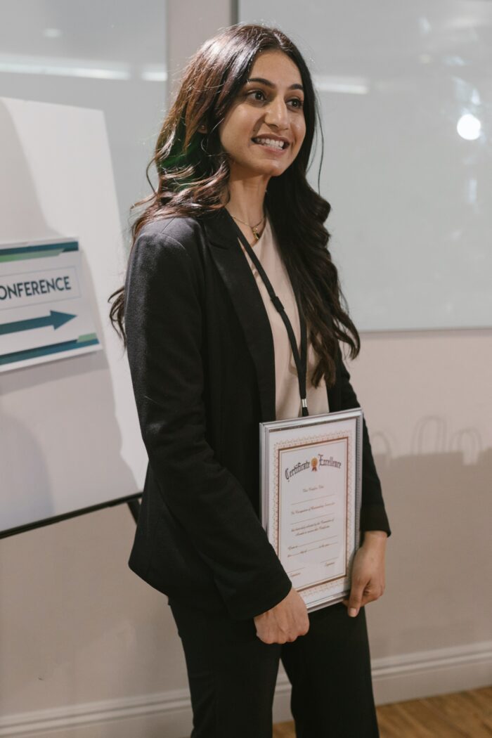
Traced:
MULTIPOLYGON (((350 384, 350 373, 341 356, 339 356, 339 362, 342 410, 361 407, 352 384, 350 384)), ((365 418, 362 424, 361 531, 386 531, 388 536, 391 535, 381 492, 381 481, 375 468, 365 418)))

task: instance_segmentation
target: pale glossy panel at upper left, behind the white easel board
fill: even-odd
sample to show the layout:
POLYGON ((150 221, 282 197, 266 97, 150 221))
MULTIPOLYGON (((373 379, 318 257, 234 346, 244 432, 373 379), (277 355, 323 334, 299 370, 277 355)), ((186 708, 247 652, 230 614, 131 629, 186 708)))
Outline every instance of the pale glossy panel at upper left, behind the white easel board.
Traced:
MULTIPOLYGON (((0 97, 104 111, 122 230, 149 193, 167 95, 166 3, 3 0, 0 97)), ((128 241, 128 234, 127 234, 128 241)))

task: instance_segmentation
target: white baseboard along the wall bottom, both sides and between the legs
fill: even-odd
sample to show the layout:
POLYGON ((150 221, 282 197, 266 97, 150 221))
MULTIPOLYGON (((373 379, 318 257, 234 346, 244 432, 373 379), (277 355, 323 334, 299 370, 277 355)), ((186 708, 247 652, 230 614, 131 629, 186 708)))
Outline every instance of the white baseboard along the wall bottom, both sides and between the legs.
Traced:
MULTIPOLYGON (((373 661, 377 704, 491 683, 492 641, 373 661)), ((275 692, 275 722, 291 720, 290 692, 291 685, 281 672, 275 692)), ((190 735, 191 724, 190 693, 180 689, 7 715, 0 718, 0 737, 135 738, 159 731, 163 738, 180 738, 190 735)))

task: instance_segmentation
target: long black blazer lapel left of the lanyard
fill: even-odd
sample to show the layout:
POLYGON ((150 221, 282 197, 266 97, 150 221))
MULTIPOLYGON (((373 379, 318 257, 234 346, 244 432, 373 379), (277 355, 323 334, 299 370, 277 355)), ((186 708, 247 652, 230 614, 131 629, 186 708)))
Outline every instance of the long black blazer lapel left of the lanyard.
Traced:
POLYGON ((252 355, 260 393, 262 421, 274 420, 274 340, 256 280, 238 243, 238 226, 225 207, 201 220, 212 258, 229 292, 252 355))

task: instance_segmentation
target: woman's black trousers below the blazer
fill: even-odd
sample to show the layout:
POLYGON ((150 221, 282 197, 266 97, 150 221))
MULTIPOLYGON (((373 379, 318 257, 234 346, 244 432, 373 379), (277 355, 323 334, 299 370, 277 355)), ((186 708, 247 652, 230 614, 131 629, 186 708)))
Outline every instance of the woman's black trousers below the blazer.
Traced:
POLYGON ((254 621, 169 600, 184 649, 191 738, 271 738, 279 661, 292 685, 297 738, 378 738, 364 607, 309 614, 293 643, 264 644, 254 621))

